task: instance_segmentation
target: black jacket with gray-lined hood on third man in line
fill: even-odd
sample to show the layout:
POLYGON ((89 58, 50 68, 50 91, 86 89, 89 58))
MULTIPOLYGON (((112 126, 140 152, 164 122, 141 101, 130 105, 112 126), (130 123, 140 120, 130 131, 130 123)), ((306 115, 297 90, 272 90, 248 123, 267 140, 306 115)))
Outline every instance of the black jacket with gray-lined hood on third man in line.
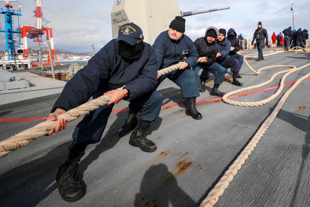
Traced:
POLYGON ((215 63, 216 54, 218 52, 217 43, 215 43, 215 41, 212 43, 208 43, 208 41, 206 39, 206 34, 207 34, 209 29, 214 29, 216 32, 217 38, 219 38, 219 30, 216 29, 215 27, 209 27, 206 30, 204 37, 197 38, 194 41, 194 45, 196 47, 196 50, 198 52, 199 57, 207 57, 208 58, 206 63, 200 63, 200 64, 204 64, 204 65, 211 65, 211 64, 215 63))

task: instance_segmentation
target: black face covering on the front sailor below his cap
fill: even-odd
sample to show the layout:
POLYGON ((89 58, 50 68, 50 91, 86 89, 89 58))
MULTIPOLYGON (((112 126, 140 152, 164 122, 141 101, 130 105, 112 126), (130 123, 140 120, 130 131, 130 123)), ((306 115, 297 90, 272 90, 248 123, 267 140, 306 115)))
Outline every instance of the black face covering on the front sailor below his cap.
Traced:
POLYGON ((118 53, 122 58, 129 60, 138 57, 142 52, 143 39, 144 36, 142 36, 142 39, 135 45, 124 44, 122 41, 118 41, 118 53))

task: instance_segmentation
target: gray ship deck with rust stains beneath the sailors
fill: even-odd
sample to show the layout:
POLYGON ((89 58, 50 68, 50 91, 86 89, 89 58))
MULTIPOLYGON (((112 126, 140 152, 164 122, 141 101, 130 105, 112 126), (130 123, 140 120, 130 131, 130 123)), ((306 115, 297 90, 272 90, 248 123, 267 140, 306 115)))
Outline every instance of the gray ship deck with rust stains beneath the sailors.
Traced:
MULTIPOLYGON (((256 57, 247 60, 255 70, 270 65, 300 67, 309 62, 309 54, 290 52, 264 58, 258 62, 256 57)), ((285 69, 267 69, 255 75, 244 64, 240 81, 243 87, 256 85, 281 70, 285 69)), ((285 83, 294 82, 309 71, 310 67, 299 70, 289 75, 285 83)), ((275 87, 282 76, 252 91, 275 87)), ((231 80, 228 70, 219 89, 230 92, 240 88, 232 85, 231 80)), ((68 203, 60 198, 55 175, 81 118, 67 124, 65 130, 38 138, 1 158, 0 205, 199 206, 292 85, 284 87, 281 95, 268 104, 240 107, 210 100, 218 98, 209 95, 213 83, 210 79, 206 84, 208 92, 197 98, 197 109, 203 115, 201 120, 185 115, 184 99, 174 83, 165 80, 159 86, 164 96, 163 105, 167 106, 146 131, 148 138, 157 144, 157 151, 153 153, 130 146, 130 134, 117 135, 127 116, 126 112, 117 110, 128 109, 128 102, 115 105, 115 113, 109 118, 101 142, 88 146, 79 163, 79 177, 86 183, 87 191, 77 202, 68 203)), ((215 206, 310 206, 309 87, 309 79, 304 80, 290 94, 215 206)), ((234 100, 259 101, 275 92, 276 89, 265 90, 234 100)), ((0 140, 42 122, 57 97, 0 106, 0 140)))

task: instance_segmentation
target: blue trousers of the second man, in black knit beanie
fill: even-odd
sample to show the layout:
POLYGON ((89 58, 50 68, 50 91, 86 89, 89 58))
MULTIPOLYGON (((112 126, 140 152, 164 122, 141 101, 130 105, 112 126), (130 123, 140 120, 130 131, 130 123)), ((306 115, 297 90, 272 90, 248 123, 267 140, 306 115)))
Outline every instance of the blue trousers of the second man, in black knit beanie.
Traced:
POLYGON ((163 74, 157 79, 157 84, 154 89, 156 90, 159 84, 161 84, 166 78, 168 78, 181 88, 183 98, 193 98, 199 96, 197 77, 193 70, 174 70, 170 73, 163 74))

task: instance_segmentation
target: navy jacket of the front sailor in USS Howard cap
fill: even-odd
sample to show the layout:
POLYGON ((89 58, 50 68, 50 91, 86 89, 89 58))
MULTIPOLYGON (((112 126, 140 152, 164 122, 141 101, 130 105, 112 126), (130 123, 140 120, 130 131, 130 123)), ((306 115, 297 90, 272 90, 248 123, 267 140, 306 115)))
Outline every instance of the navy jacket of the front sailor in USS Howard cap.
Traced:
POLYGON ((102 89, 109 91, 126 85, 124 89, 130 94, 124 99, 131 101, 154 88, 158 70, 155 49, 143 43, 141 54, 126 60, 119 55, 115 41, 113 39, 101 48, 65 85, 52 112, 58 107, 70 110, 80 106, 102 89))

